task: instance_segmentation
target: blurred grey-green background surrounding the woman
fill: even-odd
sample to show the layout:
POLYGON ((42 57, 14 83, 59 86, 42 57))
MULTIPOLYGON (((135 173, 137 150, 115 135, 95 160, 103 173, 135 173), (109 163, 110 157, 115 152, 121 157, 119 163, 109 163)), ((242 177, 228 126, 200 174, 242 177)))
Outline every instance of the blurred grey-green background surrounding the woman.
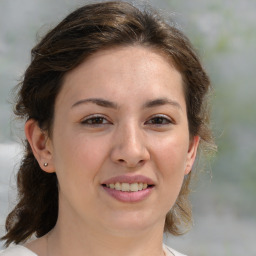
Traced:
MULTIPOLYGON (((17 129, 10 128, 11 90, 29 63, 37 35, 86 2, 0 0, 0 235, 15 201, 20 158, 17 129)), ((149 3, 189 36, 215 88, 218 153, 192 195, 193 229, 183 237, 169 236, 167 243, 189 256, 256 255, 256 1, 149 3)))

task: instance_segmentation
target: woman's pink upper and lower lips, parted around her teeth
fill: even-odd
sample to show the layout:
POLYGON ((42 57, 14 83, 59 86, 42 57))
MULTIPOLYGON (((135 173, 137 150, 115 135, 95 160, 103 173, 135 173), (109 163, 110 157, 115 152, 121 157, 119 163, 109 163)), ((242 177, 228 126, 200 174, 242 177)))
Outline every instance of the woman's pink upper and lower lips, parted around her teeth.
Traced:
POLYGON ((143 175, 120 175, 116 177, 112 177, 104 182, 102 182, 101 186, 104 189, 105 192, 107 192, 108 195, 113 197, 114 199, 124 202, 124 203, 136 203, 145 200, 154 189, 154 182, 143 175), (108 188, 104 185, 106 184, 115 184, 117 182, 120 183, 146 183, 148 185, 151 185, 150 187, 147 187, 146 189, 136 191, 136 192, 124 192, 121 190, 115 190, 108 188))

